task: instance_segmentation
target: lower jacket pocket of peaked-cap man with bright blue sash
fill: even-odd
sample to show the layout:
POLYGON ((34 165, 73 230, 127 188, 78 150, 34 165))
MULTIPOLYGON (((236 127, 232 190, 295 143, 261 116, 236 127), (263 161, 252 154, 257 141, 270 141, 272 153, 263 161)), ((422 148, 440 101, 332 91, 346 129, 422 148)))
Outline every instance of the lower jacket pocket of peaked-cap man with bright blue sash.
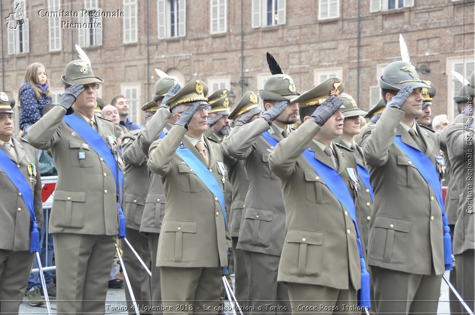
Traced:
POLYGON ((289 229, 281 258, 282 272, 297 277, 319 277, 322 273, 323 232, 289 229))

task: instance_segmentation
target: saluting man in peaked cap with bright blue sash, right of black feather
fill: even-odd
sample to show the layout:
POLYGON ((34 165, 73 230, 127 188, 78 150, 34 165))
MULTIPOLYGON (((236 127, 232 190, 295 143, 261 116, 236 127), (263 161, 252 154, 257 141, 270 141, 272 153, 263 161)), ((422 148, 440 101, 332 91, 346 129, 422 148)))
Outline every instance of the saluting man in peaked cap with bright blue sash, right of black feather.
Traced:
MULTIPOLYGON (((330 78, 293 99, 303 123, 269 155, 286 214, 277 279, 287 284, 293 313, 356 313, 357 290, 369 293, 356 161, 332 142, 343 129, 342 91, 341 80, 330 78)), ((369 295, 362 298, 359 306, 367 306, 369 295)))

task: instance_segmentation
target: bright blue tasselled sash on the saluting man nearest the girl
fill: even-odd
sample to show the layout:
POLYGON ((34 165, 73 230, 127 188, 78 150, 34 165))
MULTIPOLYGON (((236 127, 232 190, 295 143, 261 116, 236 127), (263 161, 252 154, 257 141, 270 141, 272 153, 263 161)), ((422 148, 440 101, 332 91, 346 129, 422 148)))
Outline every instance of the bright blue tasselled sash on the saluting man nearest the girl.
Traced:
MULTIPOLYGON (((99 157, 104 159, 105 164, 110 168, 114 175, 115 189, 117 196, 119 196, 120 189, 123 187, 123 174, 122 171, 118 169, 117 161, 107 143, 105 143, 104 139, 102 139, 102 137, 99 136, 99 134, 91 128, 88 123, 79 117, 75 115, 67 115, 63 117, 63 120, 69 127, 75 130, 82 139, 84 139, 84 141, 99 155, 99 157), (119 178, 117 178, 117 173, 119 178)), ((119 202, 117 202, 117 209, 119 211, 119 238, 123 239, 125 237, 125 217, 123 216, 123 211, 119 202)))

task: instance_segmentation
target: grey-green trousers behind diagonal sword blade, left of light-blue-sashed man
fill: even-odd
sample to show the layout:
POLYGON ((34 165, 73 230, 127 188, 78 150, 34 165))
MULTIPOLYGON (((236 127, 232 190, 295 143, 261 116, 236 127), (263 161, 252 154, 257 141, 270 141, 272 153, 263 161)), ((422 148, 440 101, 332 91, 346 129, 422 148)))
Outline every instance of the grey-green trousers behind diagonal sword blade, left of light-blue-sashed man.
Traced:
MULTIPOLYGON (((148 238, 140 234, 139 230, 126 228, 125 235, 127 241, 132 245, 133 249, 139 254, 140 258, 143 260, 145 265, 150 269, 151 259, 150 251, 148 248, 148 238)), ((124 240, 120 241, 122 250, 123 250, 123 268, 127 271, 127 276, 130 281, 130 286, 132 287, 132 292, 139 306, 139 311, 142 314, 151 314, 151 282, 150 275, 143 268, 139 259, 130 249, 129 245, 125 243, 124 240), (142 307, 144 306, 144 307, 142 307)), ((129 314, 135 314, 133 310, 133 303, 130 296, 129 288, 125 286, 125 300, 127 301, 127 309, 129 314)))

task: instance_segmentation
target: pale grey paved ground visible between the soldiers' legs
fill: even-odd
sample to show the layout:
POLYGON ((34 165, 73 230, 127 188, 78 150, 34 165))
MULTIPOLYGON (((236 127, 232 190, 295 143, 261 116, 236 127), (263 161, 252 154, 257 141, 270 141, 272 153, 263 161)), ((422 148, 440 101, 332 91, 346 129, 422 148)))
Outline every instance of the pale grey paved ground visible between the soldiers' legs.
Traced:
MULTIPOLYGON (((448 277, 448 271, 446 272, 448 277)), ((231 277, 234 284, 234 277, 231 277)), ((448 307, 448 286, 444 280, 442 280, 442 286, 440 287, 442 291, 442 296, 440 296, 439 307, 437 309, 437 314, 450 314, 448 307)), ((125 295, 124 289, 108 289, 107 290, 107 302, 105 314, 127 314, 126 304, 125 304, 125 295), (107 306, 109 307, 107 309, 107 306)), ((52 299, 51 301, 51 310, 53 314, 56 314, 56 300, 52 299)), ((20 315, 29 315, 29 314, 47 314, 47 308, 45 305, 42 306, 30 306, 27 302, 26 296, 23 299, 23 303, 20 306, 20 315)))

